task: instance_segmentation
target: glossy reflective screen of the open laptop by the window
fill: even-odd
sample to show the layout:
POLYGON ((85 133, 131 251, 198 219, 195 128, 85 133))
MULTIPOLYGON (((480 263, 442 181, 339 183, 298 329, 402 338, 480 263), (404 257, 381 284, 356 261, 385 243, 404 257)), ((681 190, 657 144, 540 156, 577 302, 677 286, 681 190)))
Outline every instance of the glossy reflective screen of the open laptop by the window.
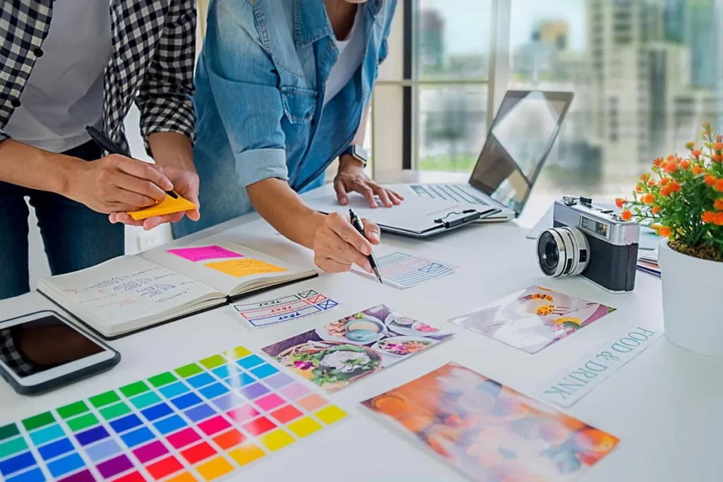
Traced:
POLYGON ((572 97, 568 92, 507 92, 470 184, 519 215, 572 97))

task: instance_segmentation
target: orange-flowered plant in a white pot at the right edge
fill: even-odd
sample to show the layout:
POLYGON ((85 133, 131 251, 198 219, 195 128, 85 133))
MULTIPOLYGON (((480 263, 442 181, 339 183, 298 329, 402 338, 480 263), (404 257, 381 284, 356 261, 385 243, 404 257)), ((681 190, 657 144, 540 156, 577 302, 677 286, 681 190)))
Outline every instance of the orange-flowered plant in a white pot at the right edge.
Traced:
POLYGON ((696 353, 723 355, 723 136, 703 124, 688 156, 654 160, 633 200, 617 199, 623 218, 650 221, 664 238, 658 263, 665 335, 696 353))

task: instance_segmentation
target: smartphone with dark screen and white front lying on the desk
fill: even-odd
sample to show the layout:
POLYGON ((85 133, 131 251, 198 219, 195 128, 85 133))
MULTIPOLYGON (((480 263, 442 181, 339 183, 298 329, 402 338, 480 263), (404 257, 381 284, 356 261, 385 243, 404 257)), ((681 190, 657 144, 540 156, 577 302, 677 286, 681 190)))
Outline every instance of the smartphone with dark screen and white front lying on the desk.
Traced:
POLYGON ((0 376, 21 395, 38 395, 106 371, 121 354, 56 311, 0 322, 0 376))

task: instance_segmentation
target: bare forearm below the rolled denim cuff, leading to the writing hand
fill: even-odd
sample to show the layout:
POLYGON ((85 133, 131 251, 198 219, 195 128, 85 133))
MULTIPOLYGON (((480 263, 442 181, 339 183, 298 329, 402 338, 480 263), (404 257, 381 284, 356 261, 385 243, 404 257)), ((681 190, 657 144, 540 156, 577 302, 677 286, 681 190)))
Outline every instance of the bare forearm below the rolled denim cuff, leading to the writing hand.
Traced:
POLYGON ((295 243, 313 249, 317 227, 324 215, 312 210, 288 182, 268 178, 247 187, 254 209, 279 233, 295 243))

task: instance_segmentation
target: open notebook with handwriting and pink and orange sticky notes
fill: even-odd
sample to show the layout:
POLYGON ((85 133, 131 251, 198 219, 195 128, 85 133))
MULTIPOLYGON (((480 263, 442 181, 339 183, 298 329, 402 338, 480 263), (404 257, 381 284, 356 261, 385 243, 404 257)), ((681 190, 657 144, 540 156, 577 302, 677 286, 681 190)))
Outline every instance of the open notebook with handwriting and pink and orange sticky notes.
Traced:
POLYGON ((317 272, 232 243, 153 249, 67 275, 38 291, 98 335, 114 339, 317 272))

